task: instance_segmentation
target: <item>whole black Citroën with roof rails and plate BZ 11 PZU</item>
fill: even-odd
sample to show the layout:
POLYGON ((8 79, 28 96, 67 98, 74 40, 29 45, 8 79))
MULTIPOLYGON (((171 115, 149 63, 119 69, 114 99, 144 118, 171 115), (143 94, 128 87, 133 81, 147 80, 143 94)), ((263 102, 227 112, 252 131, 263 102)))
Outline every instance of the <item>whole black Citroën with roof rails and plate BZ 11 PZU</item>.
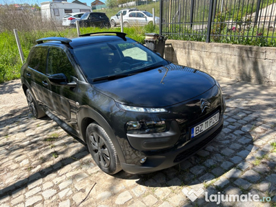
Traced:
POLYGON ((82 139, 110 175, 169 168, 219 135, 226 105, 213 77, 105 33, 37 40, 21 68, 34 117, 82 139))

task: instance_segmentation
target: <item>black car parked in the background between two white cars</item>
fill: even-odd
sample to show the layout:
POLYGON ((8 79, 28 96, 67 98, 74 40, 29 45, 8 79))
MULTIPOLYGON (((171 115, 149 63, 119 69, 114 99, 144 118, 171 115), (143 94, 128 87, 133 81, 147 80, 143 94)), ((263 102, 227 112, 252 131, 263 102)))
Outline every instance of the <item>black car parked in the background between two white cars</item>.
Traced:
POLYGON ((70 27, 76 27, 76 21, 79 21, 80 27, 99 27, 110 28, 110 21, 103 12, 86 12, 79 20, 72 20, 70 27))

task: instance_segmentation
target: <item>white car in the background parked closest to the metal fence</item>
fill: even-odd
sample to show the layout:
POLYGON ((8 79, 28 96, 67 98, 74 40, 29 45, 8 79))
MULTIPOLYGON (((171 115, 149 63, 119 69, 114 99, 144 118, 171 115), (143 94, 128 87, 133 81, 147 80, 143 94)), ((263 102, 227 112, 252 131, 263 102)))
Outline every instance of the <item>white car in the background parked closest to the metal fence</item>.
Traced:
MULTIPOLYGON (((129 26, 145 26, 148 23, 153 23, 153 16, 147 11, 128 12, 123 17, 124 27, 129 26)), ((159 24, 159 17, 155 17, 155 23, 159 24)))

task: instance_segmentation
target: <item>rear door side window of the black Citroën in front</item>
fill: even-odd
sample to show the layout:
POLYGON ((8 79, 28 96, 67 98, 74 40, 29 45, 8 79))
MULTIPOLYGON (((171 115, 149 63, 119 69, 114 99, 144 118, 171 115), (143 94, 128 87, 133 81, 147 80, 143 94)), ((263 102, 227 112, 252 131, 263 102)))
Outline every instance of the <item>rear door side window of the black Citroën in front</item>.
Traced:
POLYGON ((29 55, 28 66, 34 70, 45 73, 48 48, 33 48, 29 55))

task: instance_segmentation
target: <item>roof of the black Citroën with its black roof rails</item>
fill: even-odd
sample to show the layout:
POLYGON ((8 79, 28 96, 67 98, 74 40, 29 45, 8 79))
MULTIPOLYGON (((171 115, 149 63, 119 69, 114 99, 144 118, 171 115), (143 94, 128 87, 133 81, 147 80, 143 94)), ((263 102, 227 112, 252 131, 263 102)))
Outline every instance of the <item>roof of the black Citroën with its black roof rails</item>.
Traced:
MULTIPOLYGON (((125 37, 126 33, 123 32, 96 32, 90 34, 83 34, 82 37, 75 37, 72 39, 68 39, 65 37, 46 37, 43 39, 38 39, 37 43, 39 45, 47 45, 47 44, 55 44, 55 45, 66 45, 70 48, 76 48, 78 46, 84 46, 93 43, 101 43, 101 42, 108 42, 108 41, 117 41, 124 39, 125 41, 131 41, 132 39, 125 37), (116 35, 110 35, 114 33, 116 35), (90 36, 90 34, 95 34, 90 36), (100 34, 100 35, 99 35, 100 34), (44 42, 46 41, 46 42, 44 42)), ((134 40, 132 40, 134 41, 134 40)))

